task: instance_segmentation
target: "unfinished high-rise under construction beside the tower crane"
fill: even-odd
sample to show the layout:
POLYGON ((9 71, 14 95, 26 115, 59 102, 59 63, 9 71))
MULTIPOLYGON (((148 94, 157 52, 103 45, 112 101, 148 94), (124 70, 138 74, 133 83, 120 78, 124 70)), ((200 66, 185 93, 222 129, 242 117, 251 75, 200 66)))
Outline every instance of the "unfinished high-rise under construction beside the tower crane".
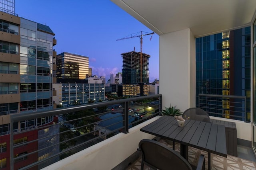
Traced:
POLYGON ((150 55, 131 51, 122 53, 123 57, 123 84, 149 83, 149 57, 150 55), (140 76, 142 75, 142 82, 140 76))

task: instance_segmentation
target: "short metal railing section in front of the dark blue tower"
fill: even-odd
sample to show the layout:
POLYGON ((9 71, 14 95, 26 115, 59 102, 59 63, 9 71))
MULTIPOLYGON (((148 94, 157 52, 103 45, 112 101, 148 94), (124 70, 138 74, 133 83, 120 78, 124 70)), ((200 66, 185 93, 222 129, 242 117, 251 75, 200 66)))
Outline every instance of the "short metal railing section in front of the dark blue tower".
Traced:
POLYGON ((199 94, 198 107, 210 116, 250 121, 250 114, 246 111, 246 96, 199 94))

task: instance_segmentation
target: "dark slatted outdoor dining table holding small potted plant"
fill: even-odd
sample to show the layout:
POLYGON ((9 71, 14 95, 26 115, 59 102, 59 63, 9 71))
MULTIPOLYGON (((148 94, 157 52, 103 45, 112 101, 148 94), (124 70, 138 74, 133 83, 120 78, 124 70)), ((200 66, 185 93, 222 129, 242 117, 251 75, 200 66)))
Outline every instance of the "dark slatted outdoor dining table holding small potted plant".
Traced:
POLYGON ((179 127, 172 116, 162 116, 142 127, 140 131, 180 143, 180 154, 188 160, 188 146, 208 152, 208 170, 211 153, 227 157, 226 133, 223 125, 186 119, 179 127))

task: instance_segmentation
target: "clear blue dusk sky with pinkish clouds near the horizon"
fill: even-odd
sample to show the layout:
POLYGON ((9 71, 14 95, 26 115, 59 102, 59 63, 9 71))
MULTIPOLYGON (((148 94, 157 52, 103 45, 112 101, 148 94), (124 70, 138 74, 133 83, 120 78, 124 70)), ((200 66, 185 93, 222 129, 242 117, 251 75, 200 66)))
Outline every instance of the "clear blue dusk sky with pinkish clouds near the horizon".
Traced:
MULTIPOLYGON (((121 53, 140 52, 140 37, 116 41, 150 29, 110 0, 16 0, 19 17, 48 25, 55 33, 57 54, 89 57, 92 75, 110 79, 122 72, 121 53)), ((142 52, 149 54, 150 82, 159 78, 159 36, 143 36, 142 52)))

